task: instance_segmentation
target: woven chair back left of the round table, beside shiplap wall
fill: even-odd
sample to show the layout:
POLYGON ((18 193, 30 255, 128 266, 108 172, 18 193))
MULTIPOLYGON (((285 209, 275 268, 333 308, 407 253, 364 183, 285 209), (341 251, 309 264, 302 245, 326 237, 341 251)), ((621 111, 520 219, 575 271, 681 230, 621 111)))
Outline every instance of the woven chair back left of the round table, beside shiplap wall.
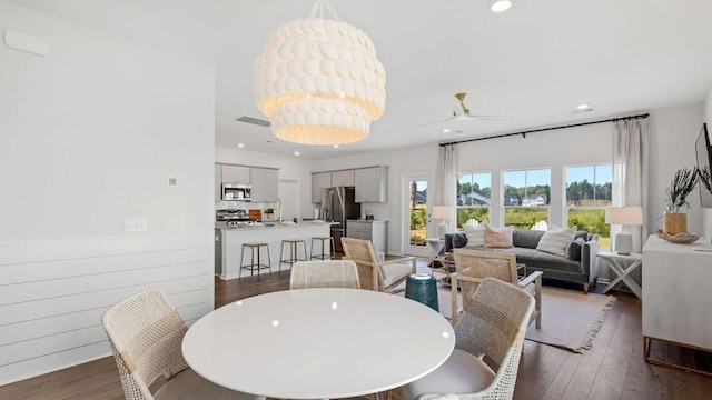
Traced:
POLYGON ((154 399, 148 387, 188 368, 180 344, 187 328, 158 289, 138 293, 101 317, 127 400, 154 399))

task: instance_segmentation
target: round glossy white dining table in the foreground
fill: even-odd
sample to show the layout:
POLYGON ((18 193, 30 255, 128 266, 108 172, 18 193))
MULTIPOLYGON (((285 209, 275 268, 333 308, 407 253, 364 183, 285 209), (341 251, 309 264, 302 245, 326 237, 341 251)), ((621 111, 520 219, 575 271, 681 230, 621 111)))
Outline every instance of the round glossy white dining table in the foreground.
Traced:
POLYGON ((414 381, 453 351, 449 322, 399 296, 299 289, 233 302, 196 321, 182 353, 201 377, 246 393, 335 399, 414 381))

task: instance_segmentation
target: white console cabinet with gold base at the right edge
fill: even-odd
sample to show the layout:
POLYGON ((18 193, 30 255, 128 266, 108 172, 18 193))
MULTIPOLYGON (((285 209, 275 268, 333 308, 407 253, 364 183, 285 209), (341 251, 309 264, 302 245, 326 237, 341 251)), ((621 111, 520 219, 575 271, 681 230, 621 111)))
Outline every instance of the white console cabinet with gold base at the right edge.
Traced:
POLYGON ((652 340, 659 340, 712 351, 712 252, 695 251, 692 244, 671 243, 651 236, 643 247, 643 264, 645 361, 709 374, 653 359, 650 346, 652 340))

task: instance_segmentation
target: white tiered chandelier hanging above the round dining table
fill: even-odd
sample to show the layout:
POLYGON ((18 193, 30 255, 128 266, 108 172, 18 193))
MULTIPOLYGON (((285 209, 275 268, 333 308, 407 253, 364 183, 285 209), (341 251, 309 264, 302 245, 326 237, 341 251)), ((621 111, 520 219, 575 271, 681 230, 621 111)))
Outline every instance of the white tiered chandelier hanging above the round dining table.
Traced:
POLYGON ((290 142, 359 141, 385 109, 386 72, 374 43, 340 22, 329 0, 271 32, 253 78, 257 107, 275 136, 290 142), (333 19, 322 18, 324 7, 333 19))

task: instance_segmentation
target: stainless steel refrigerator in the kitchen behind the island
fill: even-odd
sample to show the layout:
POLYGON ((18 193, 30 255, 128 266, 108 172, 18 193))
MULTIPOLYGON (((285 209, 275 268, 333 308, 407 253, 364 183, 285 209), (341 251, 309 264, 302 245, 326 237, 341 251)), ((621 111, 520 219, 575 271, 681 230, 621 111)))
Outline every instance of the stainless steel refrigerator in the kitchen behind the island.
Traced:
POLYGON ((346 220, 358 219, 360 204, 355 201, 353 187, 334 187, 322 190, 322 219, 339 224, 332 226, 332 238, 336 251, 342 249, 342 237, 347 237, 346 220))

